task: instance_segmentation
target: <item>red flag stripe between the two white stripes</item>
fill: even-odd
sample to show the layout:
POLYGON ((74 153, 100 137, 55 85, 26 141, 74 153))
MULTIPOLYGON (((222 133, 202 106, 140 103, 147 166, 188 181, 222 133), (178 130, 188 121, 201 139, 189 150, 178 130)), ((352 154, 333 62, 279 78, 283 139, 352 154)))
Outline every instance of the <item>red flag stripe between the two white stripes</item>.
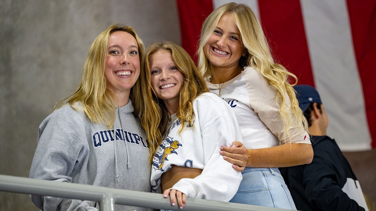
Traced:
POLYGON ((258 1, 260 19, 276 63, 299 78, 299 84, 314 86, 308 45, 299 0, 258 1))

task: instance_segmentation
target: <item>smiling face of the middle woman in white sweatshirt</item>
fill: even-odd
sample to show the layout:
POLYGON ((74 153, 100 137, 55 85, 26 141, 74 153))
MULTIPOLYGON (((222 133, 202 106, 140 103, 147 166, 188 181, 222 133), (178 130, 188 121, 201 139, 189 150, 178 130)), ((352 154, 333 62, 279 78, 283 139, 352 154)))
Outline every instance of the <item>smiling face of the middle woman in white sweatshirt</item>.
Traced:
POLYGON ((184 75, 177 68, 170 51, 158 50, 153 54, 150 75, 155 95, 163 100, 170 114, 176 113, 184 75))

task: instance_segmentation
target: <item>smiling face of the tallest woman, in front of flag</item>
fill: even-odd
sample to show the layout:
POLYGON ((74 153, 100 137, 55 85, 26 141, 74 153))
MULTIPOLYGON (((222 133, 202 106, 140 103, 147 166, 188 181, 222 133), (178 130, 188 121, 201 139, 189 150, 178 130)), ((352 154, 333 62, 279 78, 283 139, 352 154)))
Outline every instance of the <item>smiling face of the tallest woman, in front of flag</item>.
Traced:
POLYGON ((222 15, 203 50, 214 69, 239 66, 244 50, 240 31, 231 14, 222 15))

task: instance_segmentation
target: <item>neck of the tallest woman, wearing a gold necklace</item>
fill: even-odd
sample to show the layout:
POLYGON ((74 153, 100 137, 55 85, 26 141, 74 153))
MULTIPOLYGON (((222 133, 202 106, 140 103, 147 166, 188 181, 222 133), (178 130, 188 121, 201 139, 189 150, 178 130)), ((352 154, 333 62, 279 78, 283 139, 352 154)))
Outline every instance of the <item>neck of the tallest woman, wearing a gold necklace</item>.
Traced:
POLYGON ((211 83, 214 84, 220 84, 225 83, 235 76, 239 75, 242 71, 242 68, 240 68, 238 65, 233 66, 230 68, 221 68, 221 67, 211 67, 212 70, 212 76, 211 76, 211 83))

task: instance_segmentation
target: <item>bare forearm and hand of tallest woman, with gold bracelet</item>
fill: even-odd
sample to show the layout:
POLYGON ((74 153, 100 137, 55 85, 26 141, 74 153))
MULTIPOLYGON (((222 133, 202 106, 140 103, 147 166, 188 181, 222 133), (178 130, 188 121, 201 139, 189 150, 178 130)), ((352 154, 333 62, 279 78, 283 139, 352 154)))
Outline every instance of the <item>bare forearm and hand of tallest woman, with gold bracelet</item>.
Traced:
MULTIPOLYGON (((221 146, 220 154, 223 159, 234 164, 233 168, 243 171, 244 167, 239 167, 240 161, 243 166, 247 163, 248 154, 244 145, 240 142, 233 142, 232 147, 221 146)), ((248 149, 250 158, 247 167, 288 167, 302 164, 309 164, 313 158, 313 149, 306 143, 286 143, 262 149, 248 149)))

